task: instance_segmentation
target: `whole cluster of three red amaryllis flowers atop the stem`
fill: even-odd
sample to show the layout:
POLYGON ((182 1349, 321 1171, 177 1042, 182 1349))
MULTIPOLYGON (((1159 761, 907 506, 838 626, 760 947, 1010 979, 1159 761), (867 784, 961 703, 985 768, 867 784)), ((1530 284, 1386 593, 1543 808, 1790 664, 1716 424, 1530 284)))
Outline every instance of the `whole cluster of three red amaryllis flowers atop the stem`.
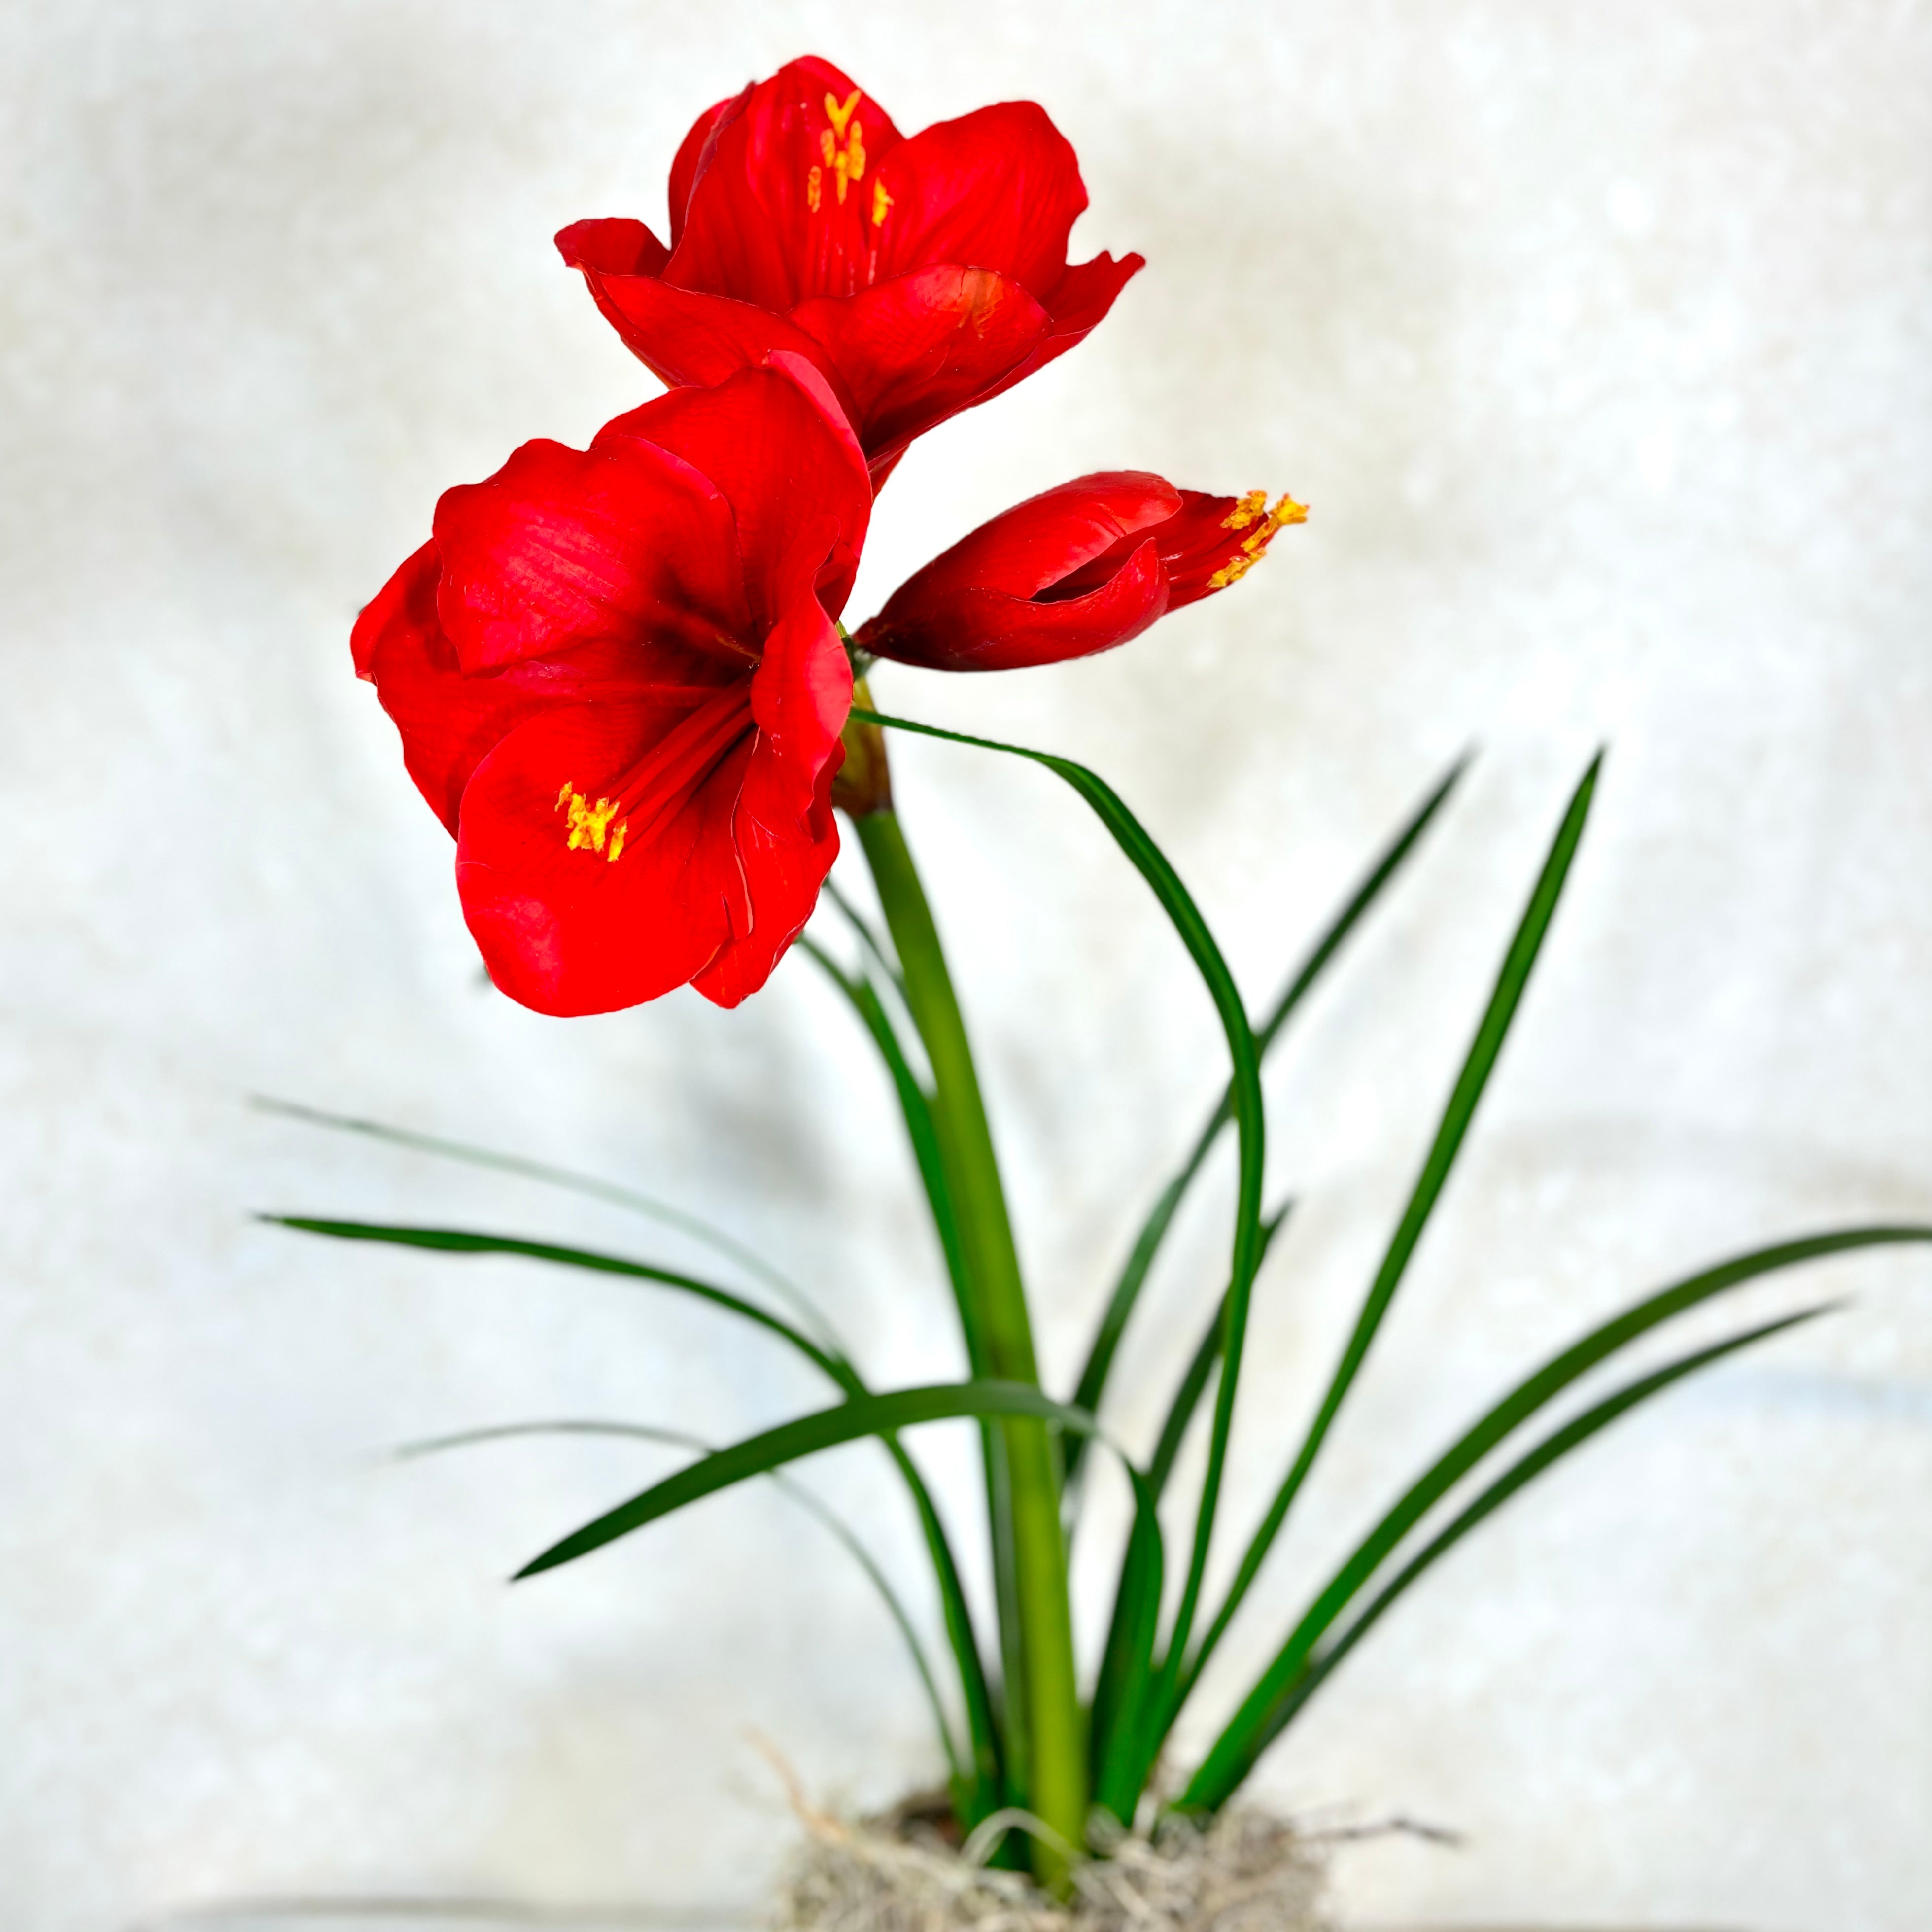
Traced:
MULTIPOLYGON (((607 1012, 688 981, 732 1007, 765 983, 838 852, 837 618, 873 491, 1142 267, 1068 267, 1084 207, 1032 102, 908 139, 800 60, 686 135, 668 247, 630 220, 556 238, 670 394, 444 493, 354 636, 512 999, 607 1012)), ((1078 477, 937 556, 854 645, 945 670, 1105 651, 1304 516, 1078 477)))

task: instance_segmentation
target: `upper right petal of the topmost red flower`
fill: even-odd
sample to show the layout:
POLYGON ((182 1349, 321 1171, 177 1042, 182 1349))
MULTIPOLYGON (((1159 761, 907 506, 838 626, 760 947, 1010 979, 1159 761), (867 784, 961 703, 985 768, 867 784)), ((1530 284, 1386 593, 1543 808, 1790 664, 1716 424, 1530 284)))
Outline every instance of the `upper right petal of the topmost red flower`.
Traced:
POLYGON ((939 122, 879 164, 883 280, 931 263, 997 269, 1045 303, 1088 205, 1066 137, 1032 100, 939 122))

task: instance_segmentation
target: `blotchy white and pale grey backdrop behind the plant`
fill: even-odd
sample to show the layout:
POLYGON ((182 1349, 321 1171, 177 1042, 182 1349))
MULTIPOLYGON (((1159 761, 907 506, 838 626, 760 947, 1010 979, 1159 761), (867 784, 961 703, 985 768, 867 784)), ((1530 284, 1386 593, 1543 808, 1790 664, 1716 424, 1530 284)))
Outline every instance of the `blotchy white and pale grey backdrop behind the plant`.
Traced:
MULTIPOLYGON (((951 1372, 881 1082, 810 968, 736 1016, 508 1007, 348 665, 444 485, 653 388, 551 232, 659 220, 696 110, 813 48, 908 131, 1037 97, 1094 193, 1082 253, 1151 263, 1088 346, 918 446, 854 614, 1080 469, 1316 506, 1126 653, 881 697, 1117 777, 1258 1003, 1482 746, 1273 1068, 1273 1186, 1306 1206, 1262 1283, 1231 1522, 1613 742, 1470 1153, 1235 1648, 1584 1321, 1762 1236, 1932 1211, 1926 6, 12 0, 8 1926, 299 1891, 730 1905, 786 1830, 750 1729, 821 1795, 933 1766, 864 1584, 777 1497, 510 1592, 661 1461, 375 1459, 535 1414, 742 1432, 819 1399, 788 1360, 649 1293, 245 1219, 676 1252, 243 1095, 469 1132, 705 1208, 881 1374, 951 1372)), ((898 771, 1065 1376, 1215 1034, 1053 781, 929 746, 898 771)), ((1188 1217, 1122 1391, 1192 1337, 1223 1211, 1188 1217)), ((1932 1922, 1932 1264, 1752 1306, 1845 1291, 1513 1505, 1269 1760, 1285 1803, 1468 1833, 1352 1853, 1360 1913, 1932 1922)), ((910 1557, 864 1453, 811 1478, 910 1557)))

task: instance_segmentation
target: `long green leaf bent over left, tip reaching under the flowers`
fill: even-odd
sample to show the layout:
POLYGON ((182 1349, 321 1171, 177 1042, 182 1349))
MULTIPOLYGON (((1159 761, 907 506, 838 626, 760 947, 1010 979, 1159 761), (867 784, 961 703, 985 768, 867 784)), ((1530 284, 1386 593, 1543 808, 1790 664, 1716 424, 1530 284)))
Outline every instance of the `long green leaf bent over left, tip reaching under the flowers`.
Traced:
POLYGON ((1034 765, 1043 765, 1055 777, 1070 784, 1094 810, 1115 844, 1126 854, 1134 869, 1153 889, 1161 910, 1167 914, 1188 956, 1194 960, 1202 981, 1213 999, 1227 1036, 1229 1061, 1233 1063, 1231 1090, 1235 1095, 1235 1130, 1240 1142, 1240 1180, 1235 1206, 1235 1240, 1229 1265, 1227 1296, 1227 1337, 1221 1352, 1221 1383, 1215 1395, 1213 1432, 1208 1443, 1208 1468, 1202 1478, 1200 1505, 1194 1517, 1194 1548, 1188 1559, 1186 1582, 1180 1590, 1180 1605, 1175 1611, 1175 1631, 1169 1638, 1173 1654, 1179 1658, 1186 1644, 1194 1607, 1200 1602, 1202 1578, 1208 1571, 1208 1551, 1213 1542, 1215 1507, 1221 1499, 1221 1474, 1227 1464, 1227 1439, 1235 1420, 1235 1391, 1240 1381, 1240 1358, 1248 1333, 1248 1300, 1254 1291, 1254 1269, 1262 1248, 1262 1165, 1265 1121, 1262 1113, 1262 1063, 1256 1051, 1254 1034, 1248 1028, 1248 1009, 1242 1005, 1235 976, 1215 945, 1208 922, 1194 904, 1192 895, 1180 883, 1180 875, 1169 864, 1167 854, 1153 842, 1140 819, 1128 811, 1121 796, 1097 773, 1086 765, 1076 765, 1068 757, 1051 752, 1034 752, 1026 746, 999 744, 991 738, 974 738, 966 732, 941 730, 937 724, 916 724, 908 719, 885 717, 877 711, 854 707, 852 717, 893 730, 910 730, 925 738, 943 738, 951 744, 970 744, 983 752, 1001 752, 1009 757, 1024 757, 1034 765))

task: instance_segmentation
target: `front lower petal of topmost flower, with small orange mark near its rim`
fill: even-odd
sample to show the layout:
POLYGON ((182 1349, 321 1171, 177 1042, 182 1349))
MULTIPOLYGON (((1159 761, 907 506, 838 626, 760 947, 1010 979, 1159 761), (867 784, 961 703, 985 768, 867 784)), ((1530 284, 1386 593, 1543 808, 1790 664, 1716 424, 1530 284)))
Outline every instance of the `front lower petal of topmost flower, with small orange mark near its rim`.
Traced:
POLYGON ((792 321, 844 377, 875 473, 916 435, 1014 379, 1049 327, 1018 282, 956 265, 916 269, 838 301, 806 301, 792 321))

